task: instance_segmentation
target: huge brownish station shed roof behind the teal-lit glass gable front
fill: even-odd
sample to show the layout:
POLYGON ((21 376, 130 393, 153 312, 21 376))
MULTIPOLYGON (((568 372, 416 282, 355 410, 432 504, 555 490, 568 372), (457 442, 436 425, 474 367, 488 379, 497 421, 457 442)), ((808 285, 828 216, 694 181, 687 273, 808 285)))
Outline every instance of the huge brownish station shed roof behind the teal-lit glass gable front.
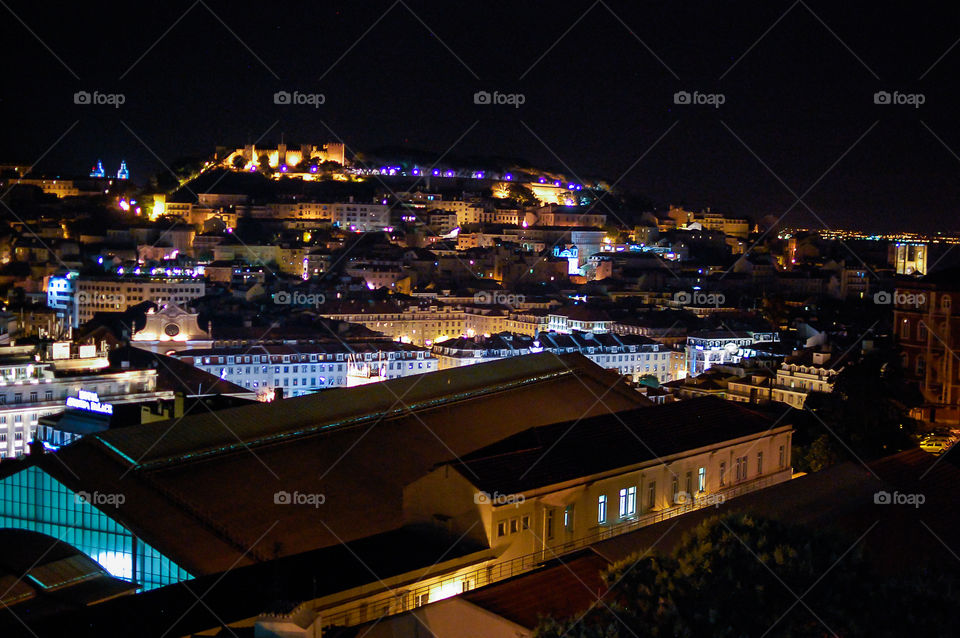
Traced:
POLYGON ((0 476, 35 464, 74 491, 123 493, 108 516, 189 573, 208 574, 396 529, 403 486, 438 463, 531 426, 647 402, 581 355, 531 355, 194 410, 2 463, 0 476), (326 501, 277 504, 278 491, 326 501))

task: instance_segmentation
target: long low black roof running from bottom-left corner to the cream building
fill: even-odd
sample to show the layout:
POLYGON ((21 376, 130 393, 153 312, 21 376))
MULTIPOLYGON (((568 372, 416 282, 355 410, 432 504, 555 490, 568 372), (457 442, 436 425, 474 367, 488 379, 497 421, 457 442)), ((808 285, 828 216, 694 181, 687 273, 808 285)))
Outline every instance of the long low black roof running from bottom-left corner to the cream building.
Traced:
MULTIPOLYGON (((191 635, 222 623, 256 616, 278 604, 321 598, 363 585, 377 588, 383 585, 383 580, 411 572, 419 575, 442 561, 483 549, 468 539, 436 529, 403 528, 202 576, 89 609, 75 605, 67 608, 69 613, 56 618, 30 622, 33 619, 28 617, 32 630, 29 635, 35 638, 191 635), (203 604, 197 603, 198 596, 202 596, 203 604)), ((0 611, 0 635, 21 633, 23 626, 10 614, 0 611)))

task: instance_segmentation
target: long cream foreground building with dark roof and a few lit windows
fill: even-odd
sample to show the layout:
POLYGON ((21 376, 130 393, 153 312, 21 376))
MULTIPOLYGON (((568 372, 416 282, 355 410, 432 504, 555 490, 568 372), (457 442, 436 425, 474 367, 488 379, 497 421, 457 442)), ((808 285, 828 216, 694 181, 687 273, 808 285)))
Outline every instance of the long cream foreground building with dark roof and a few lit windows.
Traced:
POLYGON ((531 428, 404 490, 499 562, 552 556, 787 481, 793 428, 707 397, 531 428))

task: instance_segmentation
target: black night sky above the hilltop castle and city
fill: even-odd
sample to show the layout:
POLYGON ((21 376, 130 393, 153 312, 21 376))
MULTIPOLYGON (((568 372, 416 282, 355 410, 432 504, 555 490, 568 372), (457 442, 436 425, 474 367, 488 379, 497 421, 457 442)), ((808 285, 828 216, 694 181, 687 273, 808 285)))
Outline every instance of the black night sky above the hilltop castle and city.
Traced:
POLYGON ((52 146, 41 171, 125 158, 142 181, 157 157, 282 131, 359 151, 520 156, 622 176, 661 205, 756 217, 810 189, 784 223, 960 231, 955 3, 6 6, 0 162, 52 146), (76 105, 80 90, 125 103, 76 105), (326 101, 276 105, 278 90, 326 101), (525 103, 475 105, 478 90, 525 103), (925 102, 877 105, 880 90, 925 102), (677 91, 725 103, 677 105, 677 91))

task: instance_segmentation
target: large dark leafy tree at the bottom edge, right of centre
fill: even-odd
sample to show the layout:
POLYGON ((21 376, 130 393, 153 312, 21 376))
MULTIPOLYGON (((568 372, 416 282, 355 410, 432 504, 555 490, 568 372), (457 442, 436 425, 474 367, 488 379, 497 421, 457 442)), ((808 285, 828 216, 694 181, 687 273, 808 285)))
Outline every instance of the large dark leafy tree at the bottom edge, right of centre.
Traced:
POLYGON ((715 517, 669 555, 613 565, 603 575, 602 604, 572 619, 545 619, 535 636, 940 635, 955 586, 882 578, 852 544, 771 519, 715 517))

